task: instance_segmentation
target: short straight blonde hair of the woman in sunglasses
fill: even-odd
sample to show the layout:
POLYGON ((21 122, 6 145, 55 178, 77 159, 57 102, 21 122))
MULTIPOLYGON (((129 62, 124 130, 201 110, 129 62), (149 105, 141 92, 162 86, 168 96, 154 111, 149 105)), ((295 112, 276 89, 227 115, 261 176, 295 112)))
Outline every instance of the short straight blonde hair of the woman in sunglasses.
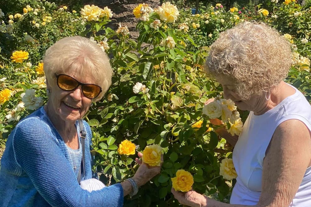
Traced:
POLYGON ((106 53, 91 40, 75 36, 58 40, 45 52, 44 73, 48 81, 55 81, 55 74, 74 70, 79 76, 91 75, 100 83, 102 92, 93 99, 99 101, 111 85, 112 69, 106 53))

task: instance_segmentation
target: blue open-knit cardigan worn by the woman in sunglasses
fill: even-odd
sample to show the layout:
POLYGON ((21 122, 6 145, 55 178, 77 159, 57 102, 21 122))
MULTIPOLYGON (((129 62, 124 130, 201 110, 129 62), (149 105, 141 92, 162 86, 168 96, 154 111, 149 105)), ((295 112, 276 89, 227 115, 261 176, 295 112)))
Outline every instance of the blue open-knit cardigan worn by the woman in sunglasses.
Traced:
MULTIPOLYGON (((85 121, 83 125, 90 146, 91 128, 85 121)), ((77 122, 76 127, 79 132, 77 122)), ((89 147, 85 155, 86 175, 81 180, 92 177, 89 147)), ((1 159, 0 206, 123 206, 121 184, 83 190, 77 182, 80 163, 81 149, 69 149, 44 108, 39 108, 22 119, 7 139, 1 159)))

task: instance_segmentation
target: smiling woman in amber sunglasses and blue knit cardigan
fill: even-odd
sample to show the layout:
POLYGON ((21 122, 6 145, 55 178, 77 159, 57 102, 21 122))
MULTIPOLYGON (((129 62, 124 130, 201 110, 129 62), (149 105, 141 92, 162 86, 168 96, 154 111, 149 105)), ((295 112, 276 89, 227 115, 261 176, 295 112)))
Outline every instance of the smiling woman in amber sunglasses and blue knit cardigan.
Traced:
POLYGON ((123 206, 123 196, 136 194, 160 166, 136 158, 140 166, 124 182, 102 188, 91 180, 92 133, 82 118, 111 84, 107 55, 87 38, 68 37, 49 47, 43 62, 49 99, 7 139, 0 206, 123 206))

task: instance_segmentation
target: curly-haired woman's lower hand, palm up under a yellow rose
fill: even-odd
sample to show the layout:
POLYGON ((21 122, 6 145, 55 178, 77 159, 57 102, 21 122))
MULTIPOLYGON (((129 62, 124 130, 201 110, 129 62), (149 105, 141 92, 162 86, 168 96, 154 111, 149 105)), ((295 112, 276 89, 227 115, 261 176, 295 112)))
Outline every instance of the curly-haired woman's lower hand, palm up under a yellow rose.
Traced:
POLYGON ((194 190, 190 190, 188 192, 181 192, 175 191, 175 189, 172 188, 171 192, 178 200, 178 202, 183 205, 188 205, 191 207, 207 206, 207 197, 197 193, 194 190))

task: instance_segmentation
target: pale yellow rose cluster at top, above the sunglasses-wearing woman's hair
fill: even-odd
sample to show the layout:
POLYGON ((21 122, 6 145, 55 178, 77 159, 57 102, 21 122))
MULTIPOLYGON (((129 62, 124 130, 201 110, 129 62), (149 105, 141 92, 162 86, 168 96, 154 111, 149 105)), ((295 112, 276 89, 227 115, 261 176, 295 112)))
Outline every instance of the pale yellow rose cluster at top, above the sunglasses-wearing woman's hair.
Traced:
POLYGON ((80 11, 82 17, 86 19, 87 21, 98 21, 99 18, 106 17, 107 19, 112 17, 112 11, 108 7, 104 7, 104 9, 101 9, 100 7, 97 7, 92 4, 85 5, 81 11, 80 11))

